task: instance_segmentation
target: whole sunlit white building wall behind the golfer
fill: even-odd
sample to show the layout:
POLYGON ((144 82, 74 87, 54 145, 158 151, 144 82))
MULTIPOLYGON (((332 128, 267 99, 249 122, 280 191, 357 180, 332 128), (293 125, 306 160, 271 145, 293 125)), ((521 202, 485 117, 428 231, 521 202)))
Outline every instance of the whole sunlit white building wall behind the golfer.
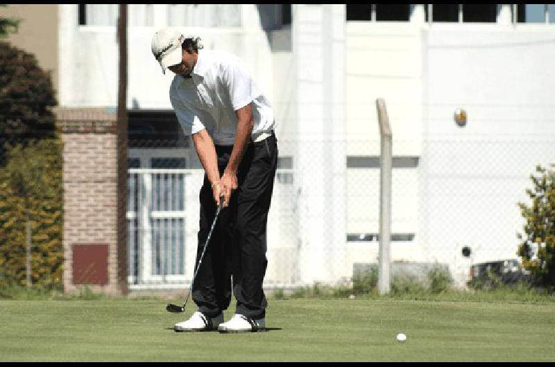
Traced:
MULTIPOLYGON (((128 107, 171 108, 171 74, 150 51, 163 6, 155 27, 130 28, 128 107)), ((294 183, 277 189, 268 229, 287 233, 280 215, 294 208, 289 239, 268 240, 269 256, 291 267, 286 280, 268 267, 268 279, 339 280, 353 262, 377 262, 377 242, 345 242, 377 232, 379 170, 345 168, 345 156, 379 155, 376 98, 386 100, 394 156, 419 158, 393 172, 393 232, 416 237, 393 242, 392 260, 447 262, 461 283, 469 261, 516 257, 516 203, 535 165, 555 156, 554 25, 513 26, 506 8, 499 24, 430 26, 419 7, 411 22, 345 22, 344 5, 293 4, 293 50, 272 52, 255 6, 241 9, 240 29, 197 30, 206 49, 246 60, 275 107, 280 156, 293 156, 294 183), (453 121, 459 107, 466 127, 453 121)), ((60 105, 113 108, 115 29, 78 27, 76 14, 60 5, 60 105)))

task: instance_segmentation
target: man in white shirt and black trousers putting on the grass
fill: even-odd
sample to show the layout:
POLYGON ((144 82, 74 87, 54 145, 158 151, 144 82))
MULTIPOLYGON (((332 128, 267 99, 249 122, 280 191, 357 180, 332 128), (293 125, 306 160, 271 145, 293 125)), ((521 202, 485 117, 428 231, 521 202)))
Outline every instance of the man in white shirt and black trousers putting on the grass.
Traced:
POLYGON ((196 267, 223 197, 192 287, 198 311, 174 328, 254 332, 264 328, 266 317, 266 222, 278 164, 274 112, 239 57, 201 50, 199 42, 164 28, 151 44, 162 71, 176 74, 171 105, 205 170, 196 267), (232 291, 237 308, 224 323, 232 291))

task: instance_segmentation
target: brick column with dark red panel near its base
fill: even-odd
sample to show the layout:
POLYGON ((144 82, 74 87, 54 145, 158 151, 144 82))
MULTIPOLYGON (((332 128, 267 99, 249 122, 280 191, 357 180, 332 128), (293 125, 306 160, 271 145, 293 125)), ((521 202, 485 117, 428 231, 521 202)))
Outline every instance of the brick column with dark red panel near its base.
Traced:
POLYGON ((58 109, 63 150, 64 291, 127 294, 125 193, 118 193, 117 116, 58 109))

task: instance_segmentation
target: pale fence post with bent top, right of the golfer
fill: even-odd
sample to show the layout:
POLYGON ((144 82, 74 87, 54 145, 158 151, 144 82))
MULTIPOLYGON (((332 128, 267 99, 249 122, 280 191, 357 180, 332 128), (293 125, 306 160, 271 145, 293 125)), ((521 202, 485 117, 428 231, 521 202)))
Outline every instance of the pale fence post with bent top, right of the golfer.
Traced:
POLYGON ((380 135, 379 159, 379 258, 378 290, 379 294, 391 289, 391 265, 389 242, 391 237, 391 171, 393 168, 392 134, 382 98, 376 100, 380 135))

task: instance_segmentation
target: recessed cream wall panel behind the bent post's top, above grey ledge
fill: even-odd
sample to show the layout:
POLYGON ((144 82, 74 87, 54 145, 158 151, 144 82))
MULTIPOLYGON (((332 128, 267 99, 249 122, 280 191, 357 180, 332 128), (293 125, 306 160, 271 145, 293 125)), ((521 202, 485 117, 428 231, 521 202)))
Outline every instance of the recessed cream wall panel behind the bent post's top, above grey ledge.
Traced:
MULTIPOLYGON (((348 138, 379 141, 376 98, 384 98, 393 131, 393 154, 420 154, 421 28, 409 22, 345 24, 345 118, 348 138), (395 141, 405 141, 395 144, 395 141)), ((349 155, 379 154, 361 145, 349 155)))

